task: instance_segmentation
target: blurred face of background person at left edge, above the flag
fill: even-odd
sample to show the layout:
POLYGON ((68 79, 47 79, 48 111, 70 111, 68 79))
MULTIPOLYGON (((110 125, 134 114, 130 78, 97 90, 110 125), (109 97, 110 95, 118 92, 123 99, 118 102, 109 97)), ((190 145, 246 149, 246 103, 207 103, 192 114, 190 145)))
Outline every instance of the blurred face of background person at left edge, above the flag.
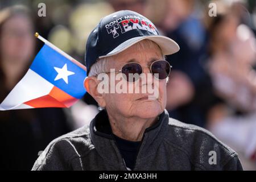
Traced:
POLYGON ((27 64, 33 56, 34 47, 33 28, 27 16, 15 15, 3 24, 0 35, 2 60, 13 64, 27 64))

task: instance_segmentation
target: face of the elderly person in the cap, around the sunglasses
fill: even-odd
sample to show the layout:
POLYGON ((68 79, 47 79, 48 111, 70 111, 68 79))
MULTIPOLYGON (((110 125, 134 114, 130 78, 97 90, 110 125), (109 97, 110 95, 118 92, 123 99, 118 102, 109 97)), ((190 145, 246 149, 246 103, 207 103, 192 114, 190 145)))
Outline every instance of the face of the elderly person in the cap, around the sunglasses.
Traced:
MULTIPOLYGON (((148 92, 105 94, 106 110, 126 118, 139 117, 144 119, 155 118, 162 113, 166 107, 166 79, 156 80, 150 73, 150 69, 145 67, 146 65, 150 65, 151 61, 161 59, 163 59, 163 57, 157 46, 142 48, 139 51, 131 46, 115 56, 113 60, 109 60, 109 68, 115 68, 115 71, 119 71, 122 66, 130 60, 141 64, 143 73, 146 73, 146 76, 150 76, 152 79, 147 78, 144 84, 141 79, 137 82, 122 80, 123 83, 127 84, 127 88, 132 84, 134 89, 139 88, 141 90, 147 86, 156 86, 155 88, 158 93, 154 93, 154 95, 156 96, 156 94, 158 94, 158 97, 155 100, 148 100, 148 96, 152 96, 152 94, 148 92)), ((117 82, 120 81, 116 81, 115 85, 117 82)))

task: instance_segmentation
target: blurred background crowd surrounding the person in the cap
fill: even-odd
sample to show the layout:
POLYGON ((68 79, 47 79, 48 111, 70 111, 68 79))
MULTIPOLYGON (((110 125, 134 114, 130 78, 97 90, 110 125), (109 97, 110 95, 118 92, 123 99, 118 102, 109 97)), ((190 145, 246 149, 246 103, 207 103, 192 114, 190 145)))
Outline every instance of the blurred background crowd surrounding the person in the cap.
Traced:
MULTIPOLYGON (((86 39, 101 17, 137 11, 180 46, 167 56, 170 117, 210 130, 238 152, 243 168, 256 170, 255 7, 253 0, 1 0, 0 102, 42 47, 35 31, 83 63, 86 39)), ((69 109, 0 111, 0 169, 30 170, 52 139, 97 113, 89 94, 69 109)))

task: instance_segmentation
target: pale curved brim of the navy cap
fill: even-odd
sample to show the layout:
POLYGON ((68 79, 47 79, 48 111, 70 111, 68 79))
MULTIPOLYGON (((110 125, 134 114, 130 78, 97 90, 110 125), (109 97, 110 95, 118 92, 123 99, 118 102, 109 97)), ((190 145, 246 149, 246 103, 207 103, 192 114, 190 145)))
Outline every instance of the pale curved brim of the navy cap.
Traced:
POLYGON ((123 42, 122 44, 114 48, 113 51, 109 52, 107 55, 100 56, 99 58, 117 55, 118 53, 125 51, 125 49, 133 46, 134 44, 144 39, 152 40, 153 42, 158 44, 158 46, 162 49, 164 55, 172 55, 173 53, 178 52, 180 49, 179 45, 174 40, 167 38, 166 36, 138 36, 136 38, 126 40, 126 42, 123 42))

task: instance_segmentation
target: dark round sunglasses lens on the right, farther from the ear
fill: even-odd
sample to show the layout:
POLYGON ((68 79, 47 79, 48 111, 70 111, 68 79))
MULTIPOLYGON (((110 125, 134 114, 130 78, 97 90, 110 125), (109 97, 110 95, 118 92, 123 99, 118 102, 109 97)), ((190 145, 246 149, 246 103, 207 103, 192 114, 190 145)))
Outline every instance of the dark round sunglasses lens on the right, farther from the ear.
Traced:
POLYGON ((154 76, 155 74, 158 74, 158 76, 156 75, 156 77, 160 80, 167 78, 170 75, 170 71, 171 71, 171 66, 165 60, 155 61, 151 65, 151 73, 154 76))

